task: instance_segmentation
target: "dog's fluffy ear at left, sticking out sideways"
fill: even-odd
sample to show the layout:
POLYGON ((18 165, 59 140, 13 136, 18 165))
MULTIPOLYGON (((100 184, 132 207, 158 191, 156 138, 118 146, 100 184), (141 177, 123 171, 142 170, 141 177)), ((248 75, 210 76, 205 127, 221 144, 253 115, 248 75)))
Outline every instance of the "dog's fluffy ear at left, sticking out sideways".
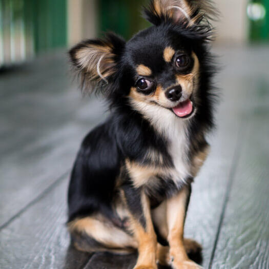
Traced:
POLYGON ((112 82, 124 47, 125 41, 113 33, 104 39, 88 39, 73 47, 69 54, 82 84, 87 87, 100 81, 112 82))

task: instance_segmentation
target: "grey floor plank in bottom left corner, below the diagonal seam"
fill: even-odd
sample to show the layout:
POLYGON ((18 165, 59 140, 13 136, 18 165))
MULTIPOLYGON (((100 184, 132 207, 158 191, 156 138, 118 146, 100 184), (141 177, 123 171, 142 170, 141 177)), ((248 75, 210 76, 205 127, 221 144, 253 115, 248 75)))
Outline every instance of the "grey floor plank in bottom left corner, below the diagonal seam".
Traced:
POLYGON ((91 254, 69 247, 68 178, 0 232, 0 268, 82 268, 91 254))

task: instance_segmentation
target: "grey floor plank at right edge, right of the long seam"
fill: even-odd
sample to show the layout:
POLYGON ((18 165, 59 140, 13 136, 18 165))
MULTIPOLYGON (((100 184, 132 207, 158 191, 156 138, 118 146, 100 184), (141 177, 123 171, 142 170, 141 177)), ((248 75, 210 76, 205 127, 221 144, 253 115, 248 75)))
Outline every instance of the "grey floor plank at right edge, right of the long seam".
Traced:
POLYGON ((269 268, 269 79, 255 81, 212 268, 269 268))

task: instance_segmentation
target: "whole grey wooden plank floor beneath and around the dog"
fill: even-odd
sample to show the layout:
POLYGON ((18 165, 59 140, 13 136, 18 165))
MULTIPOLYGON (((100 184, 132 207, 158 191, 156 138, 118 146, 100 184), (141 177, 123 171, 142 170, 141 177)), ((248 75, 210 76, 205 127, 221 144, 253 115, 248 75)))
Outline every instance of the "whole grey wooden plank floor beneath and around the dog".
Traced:
MULTIPOLYGON (((204 268, 269 268, 269 47, 222 55, 218 129, 193 185, 186 236, 204 268)), ((0 74, 0 268, 132 268, 135 256, 69 246, 66 193, 82 137, 106 117, 61 52, 0 74)))

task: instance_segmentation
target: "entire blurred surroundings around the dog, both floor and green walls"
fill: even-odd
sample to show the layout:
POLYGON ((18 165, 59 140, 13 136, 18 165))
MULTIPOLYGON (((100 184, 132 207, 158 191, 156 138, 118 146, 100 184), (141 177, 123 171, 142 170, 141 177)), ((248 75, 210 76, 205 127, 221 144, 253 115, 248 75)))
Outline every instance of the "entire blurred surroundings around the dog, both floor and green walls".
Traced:
MULTIPOLYGON (((222 14, 213 43, 222 67, 218 128, 193 185, 185 234, 203 245, 204 268, 265 269, 269 0, 214 2, 222 14)), ((140 15, 147 3, 0 0, 1 269, 128 267, 69 248, 69 173, 82 138, 109 112, 95 96, 81 97, 67 52, 108 30, 130 38, 149 25, 140 15), (98 267, 100 260, 110 264, 98 267)))

